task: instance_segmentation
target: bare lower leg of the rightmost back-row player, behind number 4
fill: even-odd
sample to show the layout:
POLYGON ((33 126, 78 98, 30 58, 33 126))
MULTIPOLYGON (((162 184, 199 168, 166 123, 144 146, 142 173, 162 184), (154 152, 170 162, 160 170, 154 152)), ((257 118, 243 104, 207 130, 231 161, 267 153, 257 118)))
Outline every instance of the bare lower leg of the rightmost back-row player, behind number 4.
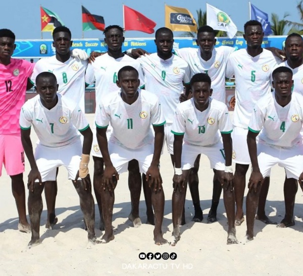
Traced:
POLYGON ((295 195, 298 191, 298 183, 294 178, 286 178, 284 181, 284 203, 285 203, 285 216, 277 227, 285 228, 294 225, 293 210, 295 195))

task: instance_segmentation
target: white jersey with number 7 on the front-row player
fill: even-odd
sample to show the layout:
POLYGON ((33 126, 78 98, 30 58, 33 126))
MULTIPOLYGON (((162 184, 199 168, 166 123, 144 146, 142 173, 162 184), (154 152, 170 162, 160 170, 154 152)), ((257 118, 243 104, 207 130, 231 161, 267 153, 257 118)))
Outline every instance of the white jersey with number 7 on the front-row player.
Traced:
POLYGON ((21 129, 33 125, 39 144, 45 147, 71 145, 79 139, 79 131, 89 127, 80 107, 65 96, 58 96, 58 103, 51 110, 45 108, 40 96, 28 100, 20 113, 21 129), (77 130, 78 129, 78 130, 77 130))

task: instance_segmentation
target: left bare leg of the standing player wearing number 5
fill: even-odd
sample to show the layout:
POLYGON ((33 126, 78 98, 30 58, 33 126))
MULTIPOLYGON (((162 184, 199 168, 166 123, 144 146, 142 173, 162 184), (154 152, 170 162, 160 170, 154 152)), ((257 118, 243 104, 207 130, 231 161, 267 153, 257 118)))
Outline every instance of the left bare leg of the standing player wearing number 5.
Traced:
POLYGON ((233 178, 236 200, 235 226, 241 225, 241 223, 244 221, 243 198, 246 183, 246 172, 248 170, 248 167, 249 165, 236 163, 236 170, 233 178))

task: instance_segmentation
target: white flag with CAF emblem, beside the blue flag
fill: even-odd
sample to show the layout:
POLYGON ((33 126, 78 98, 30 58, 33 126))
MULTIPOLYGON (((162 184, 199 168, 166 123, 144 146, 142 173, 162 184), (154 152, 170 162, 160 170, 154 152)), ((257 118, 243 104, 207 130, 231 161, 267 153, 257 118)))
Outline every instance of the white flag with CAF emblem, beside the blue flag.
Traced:
POLYGON ((209 4, 206 4, 206 21, 214 30, 226 31, 229 38, 233 38, 238 31, 226 13, 209 4))

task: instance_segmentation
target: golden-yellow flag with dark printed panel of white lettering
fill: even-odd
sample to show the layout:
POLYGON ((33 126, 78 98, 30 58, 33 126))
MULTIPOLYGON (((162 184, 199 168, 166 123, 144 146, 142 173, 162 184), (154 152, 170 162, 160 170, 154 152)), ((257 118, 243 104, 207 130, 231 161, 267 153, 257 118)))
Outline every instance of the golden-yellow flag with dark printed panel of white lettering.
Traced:
POLYGON ((187 9, 167 5, 165 5, 165 27, 172 31, 197 31, 197 24, 187 9))

